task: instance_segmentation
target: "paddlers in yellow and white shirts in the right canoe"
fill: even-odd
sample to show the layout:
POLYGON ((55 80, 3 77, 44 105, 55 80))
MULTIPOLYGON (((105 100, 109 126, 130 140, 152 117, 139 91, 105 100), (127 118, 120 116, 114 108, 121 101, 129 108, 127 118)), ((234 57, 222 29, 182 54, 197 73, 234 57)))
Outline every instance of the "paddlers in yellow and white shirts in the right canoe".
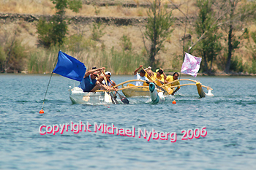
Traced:
MULTIPOLYGON (((156 72, 153 72, 150 66, 148 66, 148 68, 146 69, 143 69, 143 65, 140 65, 138 69, 135 69, 134 76, 136 80, 145 80, 148 82, 154 82, 158 86, 164 85, 164 84, 168 84, 167 86, 169 87, 174 85, 179 85, 178 81, 173 82, 175 80, 178 80, 178 72, 173 73, 173 76, 171 75, 166 76, 163 69, 157 69, 156 72), (138 74, 139 69, 140 69, 140 72, 138 74), (170 82, 173 82, 173 83, 170 83, 170 82)), ((144 82, 136 82, 135 85, 138 86, 138 85, 145 85, 145 84, 144 82)), ((174 95, 174 93, 176 93, 179 89, 180 87, 177 87, 175 90, 173 89, 172 95, 174 95)))

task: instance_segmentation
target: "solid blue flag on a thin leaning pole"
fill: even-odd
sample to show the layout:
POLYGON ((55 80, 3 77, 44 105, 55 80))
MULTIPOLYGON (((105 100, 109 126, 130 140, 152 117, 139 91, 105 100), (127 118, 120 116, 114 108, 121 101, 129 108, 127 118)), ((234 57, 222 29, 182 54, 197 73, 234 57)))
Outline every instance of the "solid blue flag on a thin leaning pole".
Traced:
POLYGON ((58 63, 53 73, 60 74, 72 80, 82 81, 86 66, 77 59, 59 51, 58 63))

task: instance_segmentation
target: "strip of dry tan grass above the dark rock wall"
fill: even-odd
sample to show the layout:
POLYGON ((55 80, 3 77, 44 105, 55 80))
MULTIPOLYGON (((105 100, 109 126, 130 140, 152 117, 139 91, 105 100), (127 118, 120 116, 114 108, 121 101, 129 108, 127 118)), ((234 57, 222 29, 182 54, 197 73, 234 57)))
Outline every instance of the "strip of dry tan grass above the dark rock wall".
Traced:
MULTIPOLYGON (((117 1, 121 3, 126 3, 129 1, 117 1)), ((135 0, 135 3, 146 3, 147 1, 135 0)), ((187 7, 189 7, 189 14, 195 13, 195 7, 193 6, 193 1, 188 0, 173 0, 173 3, 178 4, 178 6, 187 13, 187 7)), ((163 0, 162 4, 170 4, 168 0, 163 0)), ((72 10, 67 9, 67 15, 78 15, 78 16, 104 16, 104 17, 145 17, 147 16, 148 9, 143 7, 129 8, 122 7, 121 5, 110 6, 110 7, 96 7, 92 4, 83 4, 82 9, 78 13, 72 12, 72 10), (99 14, 95 12, 99 11, 99 14)), ((1 13, 21 13, 21 14, 37 14, 37 15, 53 15, 55 14, 54 4, 50 0, 5 0, 0 1, 0 12, 1 13)), ((178 9, 173 11, 173 16, 181 17, 183 16, 178 9)))

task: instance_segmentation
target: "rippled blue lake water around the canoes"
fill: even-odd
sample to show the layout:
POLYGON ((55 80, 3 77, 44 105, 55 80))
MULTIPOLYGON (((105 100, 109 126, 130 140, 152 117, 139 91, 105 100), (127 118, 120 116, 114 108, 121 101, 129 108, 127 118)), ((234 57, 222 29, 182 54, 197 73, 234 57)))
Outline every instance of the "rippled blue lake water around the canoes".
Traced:
MULTIPOLYGON (((67 90, 78 82, 53 75, 39 114, 49 78, 0 74, 0 169, 256 169, 255 77, 197 77, 214 89, 210 98, 186 86, 162 104, 143 97, 128 98, 128 105, 82 105, 72 104, 67 90), (92 132, 39 134, 40 125, 80 120, 92 132), (134 127, 135 136, 95 133, 94 123, 134 127), (203 127, 206 136, 181 140, 181 130, 203 127), (139 129, 152 128, 176 133, 176 142, 138 137, 139 129)), ((112 77, 117 83, 132 78, 112 77)))

